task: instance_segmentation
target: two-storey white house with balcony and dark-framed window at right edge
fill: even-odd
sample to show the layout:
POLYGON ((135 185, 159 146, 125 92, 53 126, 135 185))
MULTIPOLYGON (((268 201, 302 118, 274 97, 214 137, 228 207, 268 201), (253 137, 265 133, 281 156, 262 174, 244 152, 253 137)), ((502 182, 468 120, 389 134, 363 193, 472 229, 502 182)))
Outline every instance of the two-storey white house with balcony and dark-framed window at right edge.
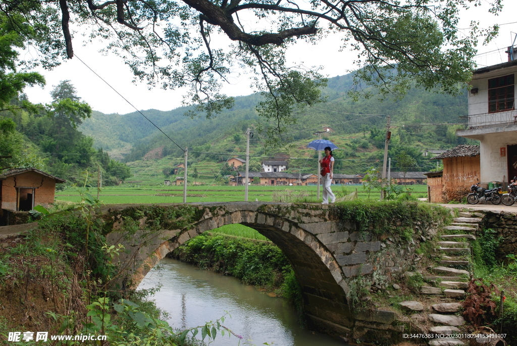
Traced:
POLYGON ((517 176, 517 48, 508 47, 506 53, 508 62, 474 71, 468 93, 468 128, 456 133, 480 142, 480 180, 485 185, 505 184, 517 176))

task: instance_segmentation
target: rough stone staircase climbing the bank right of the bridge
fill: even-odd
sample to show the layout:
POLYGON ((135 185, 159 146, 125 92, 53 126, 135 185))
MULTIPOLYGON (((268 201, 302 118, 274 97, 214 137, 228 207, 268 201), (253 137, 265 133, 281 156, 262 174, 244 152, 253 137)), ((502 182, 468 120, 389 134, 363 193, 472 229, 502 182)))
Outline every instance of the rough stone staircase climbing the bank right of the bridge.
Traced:
MULTIPOLYGON (((472 277, 472 248, 469 242, 470 240, 476 240, 473 233, 476 233, 479 229, 479 223, 483 216, 482 214, 474 215, 480 217, 471 217, 471 213, 460 212, 459 217, 454 218, 454 223, 444 227, 448 234, 441 236, 441 240, 435 248, 436 265, 429 267, 428 272, 431 274, 423 277, 426 283, 422 285, 420 292, 439 297, 440 300, 447 302, 431 306, 433 313, 427 315, 427 320, 436 325, 429 328, 428 334, 461 334, 458 327, 463 325, 465 320, 455 313, 462 307, 458 300, 461 301, 465 298, 467 282, 472 277)), ((402 302, 401 306, 404 307, 407 303, 410 302, 402 302)), ((423 311, 423 308, 413 311, 423 311)), ((429 345, 455 346, 465 345, 465 343, 460 339, 437 337, 430 340, 429 345)))

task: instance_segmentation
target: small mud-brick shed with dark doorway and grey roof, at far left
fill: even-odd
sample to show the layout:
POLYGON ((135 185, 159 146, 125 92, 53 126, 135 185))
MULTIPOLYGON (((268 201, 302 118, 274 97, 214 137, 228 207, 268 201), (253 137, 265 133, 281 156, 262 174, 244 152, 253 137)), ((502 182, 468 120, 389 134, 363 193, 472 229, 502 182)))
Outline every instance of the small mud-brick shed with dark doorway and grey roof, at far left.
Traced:
POLYGON ((48 207, 54 203, 56 184, 66 180, 36 168, 21 168, 0 174, 0 182, 2 209, 27 212, 36 205, 48 207))

